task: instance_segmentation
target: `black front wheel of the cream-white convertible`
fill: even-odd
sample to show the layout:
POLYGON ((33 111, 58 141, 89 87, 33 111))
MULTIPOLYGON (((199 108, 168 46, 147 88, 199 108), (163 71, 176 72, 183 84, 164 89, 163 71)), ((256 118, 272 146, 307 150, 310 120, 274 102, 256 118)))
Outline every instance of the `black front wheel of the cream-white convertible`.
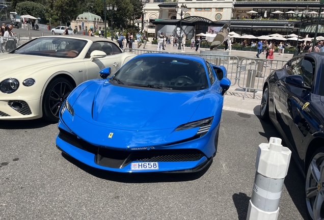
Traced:
POLYGON ((60 108, 73 89, 71 82, 64 77, 49 82, 43 98, 43 118, 46 121, 59 121, 60 108))

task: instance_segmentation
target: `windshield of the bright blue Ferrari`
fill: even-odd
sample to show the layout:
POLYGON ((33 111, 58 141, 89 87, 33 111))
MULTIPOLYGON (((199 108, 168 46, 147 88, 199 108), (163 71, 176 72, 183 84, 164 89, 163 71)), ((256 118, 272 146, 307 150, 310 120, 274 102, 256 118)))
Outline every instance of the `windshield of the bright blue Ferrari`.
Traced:
POLYGON ((150 56, 135 58, 115 74, 112 82, 140 88, 198 91, 208 88, 204 66, 196 61, 150 56), (114 80, 116 79, 116 80, 114 80))

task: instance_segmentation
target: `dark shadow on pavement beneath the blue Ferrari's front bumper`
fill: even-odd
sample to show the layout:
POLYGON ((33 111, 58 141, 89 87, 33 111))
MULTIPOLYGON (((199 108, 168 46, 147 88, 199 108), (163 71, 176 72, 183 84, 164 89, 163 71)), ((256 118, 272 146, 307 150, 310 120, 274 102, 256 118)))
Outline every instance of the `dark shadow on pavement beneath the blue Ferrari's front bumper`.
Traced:
POLYGON ((211 166, 211 163, 197 173, 117 173, 88 166, 64 153, 62 156, 85 172, 105 180, 123 183, 154 183, 154 182, 182 182, 196 180, 202 177, 211 166))

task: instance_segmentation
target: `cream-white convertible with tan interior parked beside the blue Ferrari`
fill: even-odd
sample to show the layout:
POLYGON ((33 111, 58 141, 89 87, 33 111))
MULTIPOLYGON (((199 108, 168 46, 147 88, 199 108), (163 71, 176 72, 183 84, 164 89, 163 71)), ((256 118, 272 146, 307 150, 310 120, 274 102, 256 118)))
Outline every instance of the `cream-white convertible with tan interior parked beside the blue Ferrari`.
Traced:
POLYGON ((57 122, 77 85, 105 67, 114 74, 133 57, 109 39, 75 35, 40 37, 0 54, 0 120, 57 122))

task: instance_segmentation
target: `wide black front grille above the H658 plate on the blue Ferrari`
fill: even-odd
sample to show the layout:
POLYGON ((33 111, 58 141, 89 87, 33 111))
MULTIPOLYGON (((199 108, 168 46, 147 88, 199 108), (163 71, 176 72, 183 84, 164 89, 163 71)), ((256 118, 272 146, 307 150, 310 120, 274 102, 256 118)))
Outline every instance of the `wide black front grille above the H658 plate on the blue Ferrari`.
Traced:
POLYGON ((97 147, 75 135, 60 129, 59 138, 77 148, 95 154, 95 162, 100 166, 123 168, 132 161, 150 162, 183 162, 200 160, 204 154, 197 149, 166 149, 166 150, 116 150, 97 147))

